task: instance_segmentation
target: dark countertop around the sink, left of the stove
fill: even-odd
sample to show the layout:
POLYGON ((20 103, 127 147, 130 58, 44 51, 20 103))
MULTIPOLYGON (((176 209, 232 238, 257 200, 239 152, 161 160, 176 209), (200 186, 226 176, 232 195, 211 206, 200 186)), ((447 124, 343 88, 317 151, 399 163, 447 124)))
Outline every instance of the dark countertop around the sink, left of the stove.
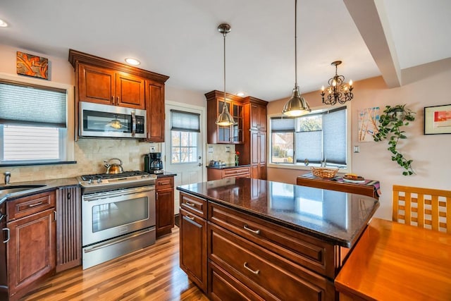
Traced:
POLYGON ((10 199, 17 199, 18 197, 25 197, 27 195, 35 195, 36 193, 46 192, 50 190, 56 190, 61 187, 66 186, 76 186, 78 185, 78 180, 76 178, 61 178, 61 179, 53 179, 53 180, 35 180, 35 181, 26 181, 26 182, 16 182, 10 183, 8 185, 0 185, 0 204, 8 201, 10 199), (43 185, 39 188, 30 188, 27 190, 19 191, 19 192, 11 192, 8 193, 7 187, 18 186, 18 185, 43 185))

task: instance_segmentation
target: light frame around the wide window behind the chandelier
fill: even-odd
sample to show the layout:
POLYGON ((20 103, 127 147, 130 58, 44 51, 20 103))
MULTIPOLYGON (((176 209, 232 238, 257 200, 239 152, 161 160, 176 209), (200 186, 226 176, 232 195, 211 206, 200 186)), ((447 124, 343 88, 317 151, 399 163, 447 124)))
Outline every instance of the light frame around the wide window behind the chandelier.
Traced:
MULTIPOLYGON (((327 111, 327 110, 334 110, 338 109, 339 107, 346 107, 346 156, 347 156, 347 167, 346 168, 339 168, 339 173, 350 173, 352 171, 352 128, 351 128, 351 104, 347 102, 346 104, 340 105, 340 106, 316 106, 314 108, 311 108, 311 114, 318 113, 318 111, 327 111)), ((271 118, 273 117, 283 117, 282 113, 276 113, 268 115, 267 117, 267 123, 268 123, 268 167, 269 168, 286 168, 286 169, 297 169, 297 170, 303 170, 303 171, 310 171, 311 167, 318 167, 319 164, 309 164, 309 166, 305 166, 303 163, 297 163, 294 159, 292 163, 273 163, 272 162, 272 152, 273 152, 273 145, 272 145, 272 124, 271 124, 271 118)), ((296 152, 296 140, 295 137, 293 137, 293 143, 294 143, 294 151, 296 152)), ((335 168, 333 166, 326 166, 329 168, 335 168)))

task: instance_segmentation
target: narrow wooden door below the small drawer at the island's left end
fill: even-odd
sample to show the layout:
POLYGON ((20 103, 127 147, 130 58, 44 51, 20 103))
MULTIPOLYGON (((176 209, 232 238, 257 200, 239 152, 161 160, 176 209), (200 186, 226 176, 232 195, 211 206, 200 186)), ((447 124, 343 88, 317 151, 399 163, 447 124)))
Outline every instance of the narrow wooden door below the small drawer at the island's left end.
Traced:
POLYGON ((206 220, 180 209, 180 268, 207 292, 206 220))

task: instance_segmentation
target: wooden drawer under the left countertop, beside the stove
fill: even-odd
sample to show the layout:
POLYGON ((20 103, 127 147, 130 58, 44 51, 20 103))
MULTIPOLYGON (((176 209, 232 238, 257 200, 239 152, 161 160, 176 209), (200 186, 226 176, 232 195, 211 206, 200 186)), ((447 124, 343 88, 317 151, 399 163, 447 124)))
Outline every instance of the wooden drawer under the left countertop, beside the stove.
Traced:
POLYGON ((20 197, 6 202, 8 220, 20 219, 30 214, 35 214, 55 207, 55 191, 42 192, 37 195, 20 197))

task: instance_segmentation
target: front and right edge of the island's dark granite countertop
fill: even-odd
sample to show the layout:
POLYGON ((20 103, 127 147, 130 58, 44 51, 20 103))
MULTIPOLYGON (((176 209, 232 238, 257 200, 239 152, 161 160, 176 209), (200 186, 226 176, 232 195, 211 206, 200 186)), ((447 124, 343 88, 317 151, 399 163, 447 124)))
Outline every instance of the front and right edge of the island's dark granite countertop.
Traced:
POLYGON ((325 242, 329 242, 329 243, 332 243, 332 244, 335 244, 335 245, 340 245, 341 247, 353 247, 354 246, 355 242, 360 237, 360 235, 364 232, 364 230, 366 229, 366 226, 368 226, 369 222, 371 221, 372 216, 374 215, 374 213, 376 212, 376 210, 380 206, 380 203, 376 202, 375 206, 373 207, 373 210, 369 214, 370 217, 369 217, 368 221, 366 221, 366 225, 364 227, 360 228, 359 231, 356 231, 355 233, 352 233, 349 236, 349 238, 344 239, 344 238, 337 238, 335 236, 331 236, 331 235, 328 235, 326 233, 320 233, 320 232, 314 231, 313 229, 310 229, 310 228, 306 228, 306 227, 303 227, 303 226, 295 225, 293 223, 290 223, 288 221, 284 221, 282 219, 276 219, 276 218, 274 218, 272 216, 268 216, 266 214, 261 214, 261 213, 258 213, 258 212, 255 212, 255 211, 243 208, 241 206, 233 205, 233 204, 230 204, 229 202, 221 201, 221 199, 216 199, 214 197, 209 197, 209 196, 203 195, 202 193, 193 192, 191 190, 185 189, 185 188, 180 187, 180 186, 177 186, 176 189, 180 190, 182 192, 190 193, 191 195, 195 195, 197 197, 201 197, 203 199, 207 199, 209 202, 214 202, 214 203, 220 204, 220 205, 222 205, 224 207, 228 207, 230 209, 235 209, 235 210, 241 211, 241 212, 243 212, 245 214, 249 214, 251 216, 255 216, 255 217, 258 217, 260 219, 264 219, 265 221, 269 221, 271 223, 276 223, 279 226, 284 226, 286 228, 290 228, 291 230, 299 231, 300 233, 311 235, 312 237, 319 238, 320 240, 323 240, 325 242))

